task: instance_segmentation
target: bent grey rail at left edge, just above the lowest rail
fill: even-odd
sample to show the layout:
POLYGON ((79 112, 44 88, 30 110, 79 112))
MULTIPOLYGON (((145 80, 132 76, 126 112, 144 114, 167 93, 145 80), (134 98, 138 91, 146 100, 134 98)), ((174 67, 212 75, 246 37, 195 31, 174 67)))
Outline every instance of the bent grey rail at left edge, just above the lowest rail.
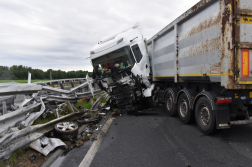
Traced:
POLYGON ((29 117, 28 113, 39 105, 41 105, 41 103, 34 102, 29 106, 0 116, 0 137, 7 133, 12 127, 17 126, 19 123, 27 119, 29 117))

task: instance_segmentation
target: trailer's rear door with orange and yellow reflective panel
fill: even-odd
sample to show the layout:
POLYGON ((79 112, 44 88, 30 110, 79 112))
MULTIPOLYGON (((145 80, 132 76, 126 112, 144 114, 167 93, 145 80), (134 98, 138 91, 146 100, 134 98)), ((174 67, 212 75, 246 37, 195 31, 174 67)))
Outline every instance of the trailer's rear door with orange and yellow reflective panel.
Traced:
POLYGON ((239 84, 252 84, 252 3, 251 0, 235 1, 237 67, 239 84))

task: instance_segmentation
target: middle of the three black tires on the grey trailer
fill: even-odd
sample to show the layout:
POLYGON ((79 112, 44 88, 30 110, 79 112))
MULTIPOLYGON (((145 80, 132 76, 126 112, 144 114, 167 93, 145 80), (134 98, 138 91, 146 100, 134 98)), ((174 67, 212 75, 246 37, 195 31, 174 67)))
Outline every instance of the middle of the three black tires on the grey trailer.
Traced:
POLYGON ((178 99, 178 115, 180 120, 185 123, 191 123, 194 119, 194 115, 189 106, 189 100, 185 93, 182 93, 178 99))

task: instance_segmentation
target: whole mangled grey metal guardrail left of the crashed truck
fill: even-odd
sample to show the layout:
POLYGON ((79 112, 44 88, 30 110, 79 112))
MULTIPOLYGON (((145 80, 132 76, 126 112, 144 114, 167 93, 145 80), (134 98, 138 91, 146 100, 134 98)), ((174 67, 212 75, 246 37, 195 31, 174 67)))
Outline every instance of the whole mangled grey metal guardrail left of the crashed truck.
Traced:
MULTIPOLYGON (((8 159, 15 151, 40 139, 45 133, 53 130, 56 123, 73 121, 80 118, 85 113, 85 110, 80 112, 71 102, 76 102, 84 97, 98 96, 103 93, 100 89, 94 89, 92 82, 92 79, 89 79, 87 76, 86 82, 70 90, 42 86, 40 85, 41 82, 39 82, 39 85, 1 84, 0 96, 12 95, 15 97, 17 94, 29 94, 29 96, 19 103, 11 104, 12 109, 15 109, 14 111, 8 111, 0 116, 0 160, 8 159), (89 91, 83 91, 83 88, 87 88, 89 91), (64 105, 67 105, 72 113, 60 117, 59 111, 62 105, 58 105, 56 109, 50 109, 47 104, 52 101, 55 103, 67 102, 64 105), (40 107, 39 111, 37 111, 38 107, 40 107), (56 119, 45 124, 31 126, 36 119, 46 115, 48 112, 52 112, 52 110, 57 115, 56 119)), ((97 110, 100 101, 104 97, 108 98, 108 95, 105 93, 99 96, 91 109, 97 110)), ((6 110, 6 107, 3 107, 3 109, 6 110)))

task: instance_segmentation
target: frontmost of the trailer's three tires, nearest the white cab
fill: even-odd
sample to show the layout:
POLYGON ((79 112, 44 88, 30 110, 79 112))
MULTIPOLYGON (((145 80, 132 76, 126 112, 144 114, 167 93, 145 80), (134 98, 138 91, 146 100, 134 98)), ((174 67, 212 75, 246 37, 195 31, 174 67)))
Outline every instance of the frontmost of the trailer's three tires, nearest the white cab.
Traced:
POLYGON ((172 94, 169 91, 165 96, 165 109, 170 117, 174 117, 178 113, 177 105, 174 103, 172 94))

